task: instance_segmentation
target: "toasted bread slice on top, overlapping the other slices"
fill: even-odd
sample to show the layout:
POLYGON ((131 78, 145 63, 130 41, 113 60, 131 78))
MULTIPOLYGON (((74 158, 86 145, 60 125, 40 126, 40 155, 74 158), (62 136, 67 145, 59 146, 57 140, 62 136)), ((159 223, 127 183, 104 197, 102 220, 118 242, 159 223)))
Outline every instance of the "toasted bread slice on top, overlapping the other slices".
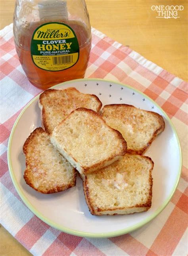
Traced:
POLYGON ((101 169, 125 155, 127 143, 91 109, 71 112, 51 134, 51 142, 79 173, 101 169))

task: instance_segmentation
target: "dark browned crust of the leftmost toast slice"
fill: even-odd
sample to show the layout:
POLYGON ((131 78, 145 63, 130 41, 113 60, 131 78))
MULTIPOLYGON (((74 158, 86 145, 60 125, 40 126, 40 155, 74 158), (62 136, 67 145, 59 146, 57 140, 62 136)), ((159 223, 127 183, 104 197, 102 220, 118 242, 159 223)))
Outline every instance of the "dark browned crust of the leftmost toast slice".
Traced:
POLYGON ((35 136, 37 136, 37 134, 42 134, 42 133, 46 133, 42 127, 38 127, 35 130, 33 130, 33 132, 29 135, 29 137, 27 138, 27 140, 25 141, 24 145, 23 145, 23 153, 25 154, 25 171, 24 171, 24 175, 23 178, 25 179, 26 184, 28 184, 31 188, 35 189, 37 192, 40 192, 42 194, 51 194, 51 193, 57 193, 57 192, 61 192, 64 190, 67 190, 68 188, 71 188, 73 186, 76 185, 76 170, 74 169, 74 174, 73 174, 73 179, 69 184, 62 184, 62 186, 54 186, 53 188, 46 188, 46 190, 41 190, 40 188, 35 188, 34 184, 32 183, 32 181, 30 180, 30 178, 27 176, 28 175, 28 167, 29 167, 29 160, 27 159, 27 154, 28 154, 28 147, 29 144, 32 143, 33 138, 35 138, 35 136))

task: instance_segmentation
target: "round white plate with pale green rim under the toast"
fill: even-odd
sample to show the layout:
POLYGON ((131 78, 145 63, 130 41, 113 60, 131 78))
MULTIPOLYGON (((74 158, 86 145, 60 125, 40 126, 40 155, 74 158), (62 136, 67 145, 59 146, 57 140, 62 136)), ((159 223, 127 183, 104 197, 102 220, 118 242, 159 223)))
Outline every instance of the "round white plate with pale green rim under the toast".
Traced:
POLYGON ((66 233, 82 237, 115 237, 129 233, 156 217, 169 203, 178 184, 182 157, 175 128, 165 112, 148 96, 121 83, 100 79, 68 81, 53 88, 76 87, 82 93, 95 94, 106 104, 126 103, 155 111, 165 120, 165 130, 153 141, 145 155, 155 163, 153 169, 152 207, 143 213, 115 216, 93 216, 84 199, 82 182, 77 177, 74 188, 57 194, 40 194, 23 179, 25 156, 23 144, 29 134, 41 126, 38 96, 17 118, 8 144, 8 165, 13 184, 27 207, 48 223, 66 233))

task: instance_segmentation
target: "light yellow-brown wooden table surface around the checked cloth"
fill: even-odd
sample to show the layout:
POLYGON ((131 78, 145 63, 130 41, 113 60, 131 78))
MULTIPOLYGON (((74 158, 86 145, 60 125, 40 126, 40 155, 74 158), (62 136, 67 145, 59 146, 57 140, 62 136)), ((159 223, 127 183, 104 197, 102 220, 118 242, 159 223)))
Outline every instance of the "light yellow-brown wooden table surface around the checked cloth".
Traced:
MULTIPOLYGON (((0 0, 0 29, 12 23, 14 0, 0 0)), ((188 80, 187 1, 86 0, 92 27, 127 45, 175 76, 188 80), (182 5, 178 19, 159 19, 153 5, 182 5)), ((0 255, 29 255, 0 227, 0 255)))

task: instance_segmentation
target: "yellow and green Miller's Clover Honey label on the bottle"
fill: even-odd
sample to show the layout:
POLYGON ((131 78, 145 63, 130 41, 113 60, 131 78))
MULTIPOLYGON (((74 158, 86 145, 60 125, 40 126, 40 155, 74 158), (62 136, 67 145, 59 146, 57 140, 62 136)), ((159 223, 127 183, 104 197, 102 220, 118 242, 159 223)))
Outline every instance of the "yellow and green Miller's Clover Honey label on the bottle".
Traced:
POLYGON ((33 63, 43 70, 71 68, 79 60, 79 43, 75 32, 65 23, 40 25, 31 39, 31 57, 33 63))

